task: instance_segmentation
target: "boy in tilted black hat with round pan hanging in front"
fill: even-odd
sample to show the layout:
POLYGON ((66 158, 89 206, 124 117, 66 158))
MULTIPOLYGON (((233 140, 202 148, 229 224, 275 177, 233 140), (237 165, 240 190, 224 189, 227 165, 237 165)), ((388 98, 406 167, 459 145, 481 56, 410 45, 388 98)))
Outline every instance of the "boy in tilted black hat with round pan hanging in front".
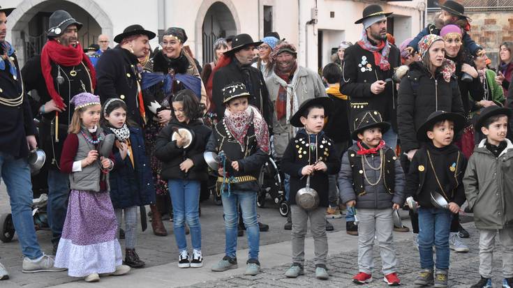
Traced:
MULTIPOLYGON (((312 98, 304 101, 290 118, 290 124, 301 127, 297 135, 290 139, 283 158, 282 171, 290 175, 290 197, 292 212, 292 266, 285 272, 288 278, 297 278, 304 274, 304 238, 310 219, 310 231, 313 235, 315 258, 315 277, 321 280, 329 278, 326 271, 328 241, 326 236, 326 208, 328 206, 328 174, 336 174, 340 169, 338 153, 331 139, 322 128, 331 99, 312 98), (299 190, 308 183, 316 191, 318 205, 300 206, 302 202, 299 190), (299 193, 299 198, 297 197, 299 193), (304 209, 306 208, 306 209, 304 209)), ((302 195, 305 197, 306 195, 302 195)))

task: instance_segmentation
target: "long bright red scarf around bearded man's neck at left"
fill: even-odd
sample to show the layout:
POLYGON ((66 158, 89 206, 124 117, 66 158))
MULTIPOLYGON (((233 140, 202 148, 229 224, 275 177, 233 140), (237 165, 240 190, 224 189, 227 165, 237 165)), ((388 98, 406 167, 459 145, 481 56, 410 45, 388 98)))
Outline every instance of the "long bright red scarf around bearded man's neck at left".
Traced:
POLYGON ((77 46, 73 47, 71 45, 60 45, 56 40, 48 40, 41 52, 41 71, 43 71, 43 77, 45 77, 46 89, 48 89, 50 97, 52 97, 58 107, 64 108, 64 101, 55 90, 54 79, 51 74, 51 62, 66 67, 77 66, 80 62, 84 62, 91 75, 92 89, 94 90, 96 88, 96 72, 94 71, 94 66, 91 60, 89 60, 89 56, 82 50, 80 43, 77 43, 77 46))

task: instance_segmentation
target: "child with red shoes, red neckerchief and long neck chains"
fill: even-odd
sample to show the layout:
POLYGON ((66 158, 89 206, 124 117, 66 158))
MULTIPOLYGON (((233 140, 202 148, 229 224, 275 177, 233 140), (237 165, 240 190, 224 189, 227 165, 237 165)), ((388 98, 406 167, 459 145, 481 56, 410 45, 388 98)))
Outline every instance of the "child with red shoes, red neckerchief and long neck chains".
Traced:
POLYGON ((363 111, 353 123, 353 144, 342 158, 339 173, 341 200, 355 212, 358 223, 359 273, 355 284, 372 280, 373 243, 378 237, 383 280, 390 286, 400 285, 396 274, 396 253, 392 232, 393 210, 404 203, 404 173, 394 149, 382 140, 390 125, 383 122, 378 111, 363 111), (392 210, 393 209, 393 210, 392 210))

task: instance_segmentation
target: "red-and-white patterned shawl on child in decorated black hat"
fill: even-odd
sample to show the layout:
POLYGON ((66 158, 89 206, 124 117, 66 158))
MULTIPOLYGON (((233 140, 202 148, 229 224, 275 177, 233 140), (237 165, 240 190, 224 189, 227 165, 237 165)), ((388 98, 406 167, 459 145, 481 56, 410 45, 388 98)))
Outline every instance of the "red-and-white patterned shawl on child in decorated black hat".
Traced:
POLYGON ((237 142, 244 147, 244 138, 248 134, 248 128, 251 123, 255 126, 255 136, 258 148, 269 153, 269 129, 267 123, 254 106, 248 105, 248 108, 243 112, 232 113, 230 110, 225 110, 223 123, 230 133, 235 137, 237 142))

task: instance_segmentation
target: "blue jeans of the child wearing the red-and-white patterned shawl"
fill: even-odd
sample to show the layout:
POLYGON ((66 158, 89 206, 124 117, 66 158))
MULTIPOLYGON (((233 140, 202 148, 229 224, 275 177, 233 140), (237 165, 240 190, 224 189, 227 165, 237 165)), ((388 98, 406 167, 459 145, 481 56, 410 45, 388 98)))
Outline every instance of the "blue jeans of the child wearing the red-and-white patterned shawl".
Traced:
POLYGON ((228 257, 237 256, 237 224, 239 223, 239 213, 237 213, 237 202, 239 202, 242 211, 242 220, 246 226, 248 236, 249 257, 248 259, 258 260, 260 250, 260 229, 258 228, 256 213, 255 191, 237 191, 232 190, 221 193, 223 199, 223 212, 225 213, 225 254, 228 257))

